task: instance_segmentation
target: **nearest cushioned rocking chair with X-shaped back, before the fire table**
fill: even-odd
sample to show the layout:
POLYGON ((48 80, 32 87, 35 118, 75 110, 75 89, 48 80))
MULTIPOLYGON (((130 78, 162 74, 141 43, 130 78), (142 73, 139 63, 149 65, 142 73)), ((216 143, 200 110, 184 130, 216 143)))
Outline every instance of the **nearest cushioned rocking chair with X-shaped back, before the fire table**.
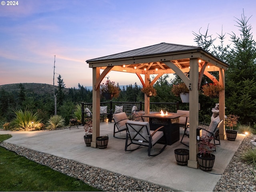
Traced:
POLYGON ((150 130, 149 122, 142 122, 142 121, 132 121, 128 120, 126 122, 126 142, 125 142, 125 151, 133 151, 141 146, 148 147, 148 156, 156 156, 160 154, 164 148, 167 146, 166 135, 164 132, 164 126, 160 126, 156 130, 150 130), (163 131, 160 129, 163 128, 163 131), (165 138, 164 146, 160 149, 159 152, 151 154, 151 149, 153 146, 160 140, 160 138, 165 138), (129 143, 128 143, 129 141, 129 143), (131 145, 138 145, 132 149, 128 150, 128 146, 131 145))

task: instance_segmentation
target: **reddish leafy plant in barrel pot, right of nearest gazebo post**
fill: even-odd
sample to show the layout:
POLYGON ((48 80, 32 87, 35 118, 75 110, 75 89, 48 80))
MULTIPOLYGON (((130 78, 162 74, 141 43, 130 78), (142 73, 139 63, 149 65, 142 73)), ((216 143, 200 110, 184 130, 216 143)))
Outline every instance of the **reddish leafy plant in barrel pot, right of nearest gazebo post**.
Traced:
POLYGON ((211 171, 215 161, 215 155, 211 154, 214 144, 211 143, 213 137, 203 135, 198 142, 197 160, 200 169, 211 171))

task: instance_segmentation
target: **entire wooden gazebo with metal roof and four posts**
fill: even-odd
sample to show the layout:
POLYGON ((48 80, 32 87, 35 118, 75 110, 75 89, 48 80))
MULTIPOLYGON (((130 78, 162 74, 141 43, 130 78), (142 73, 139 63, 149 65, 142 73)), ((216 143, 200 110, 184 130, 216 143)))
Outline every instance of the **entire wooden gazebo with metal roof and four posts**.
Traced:
MULTIPOLYGON (((179 44, 160 43, 144 48, 138 48, 118 54, 86 60, 92 68, 92 128, 93 137, 91 146, 96 148, 96 137, 100 136, 100 84, 110 71, 134 73, 138 76, 143 86, 154 84, 163 74, 176 73, 189 89, 190 110, 190 137, 188 167, 198 168, 196 158, 198 128, 198 90, 203 75, 208 76, 214 82, 225 86, 225 71, 228 64, 208 53, 198 46, 186 46, 179 44), (103 72, 100 74, 100 70, 103 72), (209 72, 219 72, 219 80, 209 72), (189 78, 186 73, 189 72, 189 78), (150 82, 150 75, 156 77, 150 82), (141 75, 144 75, 144 79, 141 75)), ((149 114, 150 98, 145 94, 145 114, 149 114)), ((225 116, 225 91, 219 94, 219 116, 224 120, 225 116)), ((225 139, 224 124, 220 128, 220 139, 225 139)))

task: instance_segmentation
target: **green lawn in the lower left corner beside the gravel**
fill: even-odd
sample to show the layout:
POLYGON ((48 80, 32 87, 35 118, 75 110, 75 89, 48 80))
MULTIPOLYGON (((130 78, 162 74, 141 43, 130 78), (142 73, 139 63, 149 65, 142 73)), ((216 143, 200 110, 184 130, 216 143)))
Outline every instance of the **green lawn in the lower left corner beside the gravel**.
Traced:
MULTIPOLYGON (((0 135, 0 142, 11 135, 0 135)), ((0 147, 0 191, 100 191, 0 147)))

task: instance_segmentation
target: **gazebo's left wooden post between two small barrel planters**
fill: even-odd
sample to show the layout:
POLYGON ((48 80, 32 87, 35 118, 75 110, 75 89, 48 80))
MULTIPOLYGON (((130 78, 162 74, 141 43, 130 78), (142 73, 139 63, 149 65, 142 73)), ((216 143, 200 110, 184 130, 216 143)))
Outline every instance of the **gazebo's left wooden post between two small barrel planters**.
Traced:
MULTIPOLYGON (((95 86, 100 77, 100 68, 92 68, 92 84, 95 86)), ((100 87, 92 88, 92 142, 91 147, 97 148, 96 137, 100 136, 100 87)))

